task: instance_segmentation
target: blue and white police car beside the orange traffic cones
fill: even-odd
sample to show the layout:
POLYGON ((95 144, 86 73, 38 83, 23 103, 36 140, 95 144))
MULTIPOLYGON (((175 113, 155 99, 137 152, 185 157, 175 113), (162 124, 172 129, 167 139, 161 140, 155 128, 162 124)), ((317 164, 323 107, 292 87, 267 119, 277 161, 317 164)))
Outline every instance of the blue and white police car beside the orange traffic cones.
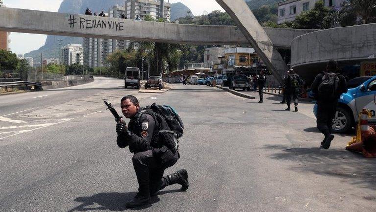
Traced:
MULTIPOLYGON (((349 88, 347 93, 340 96, 333 119, 333 132, 343 133, 354 127, 363 108, 371 111, 372 117, 368 121, 376 123, 376 76, 355 88, 349 88)), ((317 105, 313 112, 317 115, 317 105)))

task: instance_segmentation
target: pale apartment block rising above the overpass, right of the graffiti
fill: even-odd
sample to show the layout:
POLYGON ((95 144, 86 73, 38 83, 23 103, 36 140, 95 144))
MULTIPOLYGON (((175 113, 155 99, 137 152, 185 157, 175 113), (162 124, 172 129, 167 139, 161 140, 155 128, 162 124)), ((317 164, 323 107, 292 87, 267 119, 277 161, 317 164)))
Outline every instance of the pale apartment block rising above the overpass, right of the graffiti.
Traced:
MULTIPOLYGON (((165 2, 163 17, 170 22, 171 21, 171 4, 165 2)), ((153 19, 157 19, 160 16, 161 0, 125 0, 125 10, 127 18, 135 19, 136 15, 139 15, 143 20, 147 15, 150 15, 153 19)))

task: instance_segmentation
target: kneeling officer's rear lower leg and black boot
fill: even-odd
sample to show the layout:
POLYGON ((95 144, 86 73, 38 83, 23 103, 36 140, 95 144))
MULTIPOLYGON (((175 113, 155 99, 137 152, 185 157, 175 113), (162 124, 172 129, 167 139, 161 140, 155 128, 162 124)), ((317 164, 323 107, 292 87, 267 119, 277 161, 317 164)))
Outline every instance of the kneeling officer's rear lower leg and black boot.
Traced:
POLYGON ((189 187, 187 170, 181 169, 173 174, 163 177, 162 180, 156 185, 151 185, 150 195, 155 196, 159 190, 162 190, 168 185, 172 185, 172 184, 180 184, 182 185, 180 190, 186 191, 189 187))

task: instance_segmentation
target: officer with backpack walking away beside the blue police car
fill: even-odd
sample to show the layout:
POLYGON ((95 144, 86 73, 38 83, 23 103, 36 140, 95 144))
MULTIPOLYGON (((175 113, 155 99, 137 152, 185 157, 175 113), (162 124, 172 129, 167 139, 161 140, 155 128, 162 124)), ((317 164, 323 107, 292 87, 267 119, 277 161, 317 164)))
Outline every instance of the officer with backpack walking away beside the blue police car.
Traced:
POLYGON ((325 135, 321 146, 329 149, 332 134, 333 119, 337 111, 339 97, 347 92, 346 79, 337 72, 337 62, 330 60, 327 64, 326 72, 316 76, 311 89, 315 93, 317 100, 317 128, 325 135))

